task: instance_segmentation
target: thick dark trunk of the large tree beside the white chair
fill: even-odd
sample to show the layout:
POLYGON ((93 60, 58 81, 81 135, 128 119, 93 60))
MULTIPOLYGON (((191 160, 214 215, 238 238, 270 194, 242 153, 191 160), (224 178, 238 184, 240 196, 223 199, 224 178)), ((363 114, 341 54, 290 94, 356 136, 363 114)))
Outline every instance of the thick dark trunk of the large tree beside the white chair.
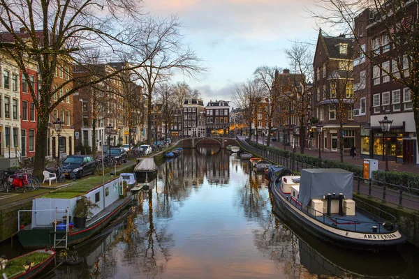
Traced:
POLYGON ((34 176, 38 177, 38 179, 40 180, 42 178, 42 172, 45 170, 45 151, 47 150, 48 116, 49 114, 38 112, 38 123, 36 123, 37 133, 36 152, 34 158, 34 176))

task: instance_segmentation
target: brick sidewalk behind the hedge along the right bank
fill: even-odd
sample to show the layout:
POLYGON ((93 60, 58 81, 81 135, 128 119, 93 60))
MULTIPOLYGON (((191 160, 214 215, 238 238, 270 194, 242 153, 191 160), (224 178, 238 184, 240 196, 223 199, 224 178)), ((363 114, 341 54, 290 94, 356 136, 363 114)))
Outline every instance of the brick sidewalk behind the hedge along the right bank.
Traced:
MULTIPOLYGON (((242 140, 244 140, 245 138, 247 137, 240 136, 240 139, 242 140)), ((255 141, 256 139, 252 137, 252 140, 255 141)), ((262 143, 262 138, 259 137, 258 143, 266 144, 266 138, 265 138, 265 142, 262 143)), ((274 146, 274 147, 277 147, 278 149, 284 150, 284 144, 282 144, 281 142, 270 142, 270 146, 274 146)), ((291 151, 291 152, 293 151, 291 146, 286 146, 286 150, 291 151)), ((295 152, 300 153, 300 148, 296 148, 295 152)), ((304 154, 318 157, 318 150, 304 149, 304 154)), ((339 152, 321 152, 321 158, 340 161, 340 153, 339 152)), ((344 163, 352 163, 353 165, 362 166, 364 163, 364 159, 360 158, 359 155, 355 156, 355 158, 352 158, 352 156, 349 156, 349 155, 344 155, 344 163)), ((379 170, 385 169, 385 161, 378 160, 378 169, 379 170)), ((411 172, 414 174, 419 174, 419 167, 415 167, 413 165, 403 165, 403 164, 395 163, 392 161, 388 161, 388 169, 390 171, 395 171, 395 172, 411 172)))

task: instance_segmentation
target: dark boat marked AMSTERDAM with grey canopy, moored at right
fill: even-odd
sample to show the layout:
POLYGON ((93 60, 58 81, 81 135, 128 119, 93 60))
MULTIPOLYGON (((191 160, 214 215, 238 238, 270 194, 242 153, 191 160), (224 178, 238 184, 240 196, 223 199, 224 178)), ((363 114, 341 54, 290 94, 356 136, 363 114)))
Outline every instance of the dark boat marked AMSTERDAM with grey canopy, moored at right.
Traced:
MULTIPOLYGON (((302 169, 271 183, 278 209, 310 234, 354 249, 380 250, 406 241, 395 217, 380 218, 353 199, 353 173, 343 169, 302 169)), ((378 210, 378 209, 377 209, 378 210)))

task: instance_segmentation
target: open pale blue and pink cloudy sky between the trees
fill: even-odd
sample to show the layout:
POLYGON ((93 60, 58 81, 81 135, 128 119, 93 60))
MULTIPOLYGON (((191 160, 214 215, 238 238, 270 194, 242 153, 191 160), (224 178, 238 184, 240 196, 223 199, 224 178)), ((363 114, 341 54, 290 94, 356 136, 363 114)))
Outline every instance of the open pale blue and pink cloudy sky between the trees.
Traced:
POLYGON ((205 105, 232 100, 237 84, 258 66, 286 68, 284 50, 293 41, 315 44, 316 22, 306 11, 313 8, 312 0, 145 0, 145 11, 152 15, 181 20, 184 43, 207 72, 199 80, 183 75, 172 80, 198 89, 205 105))

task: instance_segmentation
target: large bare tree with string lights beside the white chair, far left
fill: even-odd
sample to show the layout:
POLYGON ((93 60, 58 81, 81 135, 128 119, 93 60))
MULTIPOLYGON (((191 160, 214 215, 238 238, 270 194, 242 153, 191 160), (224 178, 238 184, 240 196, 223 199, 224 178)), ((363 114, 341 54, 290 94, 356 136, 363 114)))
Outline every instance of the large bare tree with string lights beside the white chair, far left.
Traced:
MULTIPOLYGON (((143 35, 138 29, 141 3, 135 0, 0 1, 0 49, 17 64, 26 80, 29 80, 29 61, 38 64, 39 92, 28 83, 38 114, 34 163, 37 176, 41 176, 45 166, 50 113, 75 91, 116 74, 70 86, 69 91, 52 99, 55 93, 73 82, 69 77, 54 88, 57 66, 84 63, 86 54, 98 48, 105 50, 105 62, 105 58, 120 59, 121 54, 140 47, 137 42, 143 40, 136 39, 143 35)), ((141 61, 133 61, 133 68, 141 64, 141 61)))

